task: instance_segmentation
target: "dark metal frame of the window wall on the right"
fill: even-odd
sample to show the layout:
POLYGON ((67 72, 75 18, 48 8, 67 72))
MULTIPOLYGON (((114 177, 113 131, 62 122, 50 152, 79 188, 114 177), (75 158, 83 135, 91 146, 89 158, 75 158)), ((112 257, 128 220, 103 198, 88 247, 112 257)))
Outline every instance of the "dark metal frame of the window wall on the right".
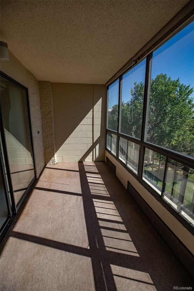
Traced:
MULTIPOLYGON (((121 129, 121 102, 122 102, 122 76, 128 72, 132 67, 134 66, 134 62, 124 71, 119 75, 119 108, 118 108, 118 126, 117 126, 117 132, 107 129, 106 128, 106 136, 107 132, 113 133, 117 135, 117 149, 116 149, 116 156, 114 156, 109 149, 105 148, 107 152, 111 156, 113 156, 117 162, 119 162, 132 176, 135 177, 135 179, 138 180, 138 182, 146 188, 161 204, 164 206, 186 229, 189 230, 194 235, 194 226, 192 226, 191 223, 189 223, 179 212, 172 208, 172 206, 169 205, 163 199, 163 192, 164 192, 164 187, 165 187, 165 181, 166 181, 166 172, 167 172, 167 163, 170 159, 175 160, 176 162, 182 163, 189 168, 194 168, 194 157, 187 156, 185 154, 175 152, 171 149, 166 149, 162 146, 158 146, 155 144, 152 144, 150 142, 146 141, 146 132, 147 132, 147 120, 148 120, 148 112, 149 112, 149 94, 150 94, 150 82, 151 82, 151 69, 152 69, 152 53, 156 51, 160 46, 162 46, 165 42, 167 42, 170 38, 172 38, 174 35, 176 35, 180 30, 182 30, 184 27, 186 27, 189 23, 194 21, 194 17, 190 18, 186 23, 184 23, 181 27, 176 29, 174 32, 171 32, 163 42, 160 42, 158 45, 152 48, 151 52, 149 52, 146 55, 146 72, 145 72, 145 89, 144 89, 144 103, 143 103, 143 115, 142 115, 142 132, 141 132, 141 139, 137 139, 135 137, 131 137, 129 135, 125 135, 123 133, 120 133, 121 129), (119 159, 119 140, 120 138, 124 138, 127 140, 127 151, 128 151, 128 140, 131 142, 134 142, 136 144, 139 144, 139 163, 138 163, 138 171, 137 175, 135 172, 133 172, 127 165, 122 162, 121 159, 119 159), (162 191, 161 195, 159 195, 152 187, 150 187, 143 179, 142 179, 142 174, 143 174, 143 168, 144 168, 144 155, 145 155, 145 149, 148 148, 154 152, 157 152, 161 154, 162 156, 166 157, 166 162, 165 162, 165 169, 164 169, 164 177, 163 177, 163 183, 162 183, 162 191)), ((135 65, 137 65, 139 62, 141 62, 143 59, 145 59, 145 54, 142 55, 140 59, 137 61, 135 60, 135 65)), ((118 77, 115 79, 117 80, 118 77)), ((113 80, 109 85, 115 82, 113 80)), ((107 91, 109 88, 109 85, 107 86, 107 91)), ((107 94, 107 99, 108 99, 108 94, 107 94)), ((108 105, 108 101, 107 101, 108 105)), ((107 106, 107 118, 108 118, 108 106, 107 106)), ((106 123, 107 124, 107 123, 106 123)))

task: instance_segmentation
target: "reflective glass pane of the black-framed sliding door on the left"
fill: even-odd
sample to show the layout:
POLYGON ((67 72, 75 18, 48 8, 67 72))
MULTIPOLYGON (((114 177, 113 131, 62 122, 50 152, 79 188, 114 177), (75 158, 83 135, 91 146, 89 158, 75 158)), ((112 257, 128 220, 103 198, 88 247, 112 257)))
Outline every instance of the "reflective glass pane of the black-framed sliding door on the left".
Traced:
POLYGON ((15 202, 34 179, 26 91, 1 78, 1 107, 15 202))

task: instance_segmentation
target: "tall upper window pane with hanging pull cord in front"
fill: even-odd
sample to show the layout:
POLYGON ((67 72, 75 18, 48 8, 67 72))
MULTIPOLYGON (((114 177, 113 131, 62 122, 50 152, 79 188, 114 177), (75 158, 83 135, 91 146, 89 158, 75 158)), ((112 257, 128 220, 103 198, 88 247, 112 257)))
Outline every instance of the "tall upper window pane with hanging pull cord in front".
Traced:
POLYGON ((120 132, 141 139, 146 59, 122 76, 120 132))

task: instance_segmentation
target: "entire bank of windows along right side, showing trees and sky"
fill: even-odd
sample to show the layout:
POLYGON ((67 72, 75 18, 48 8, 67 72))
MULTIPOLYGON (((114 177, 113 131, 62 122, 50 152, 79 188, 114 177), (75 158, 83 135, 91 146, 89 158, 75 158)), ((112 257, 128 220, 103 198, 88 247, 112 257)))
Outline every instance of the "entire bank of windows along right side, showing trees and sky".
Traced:
POLYGON ((183 225, 187 221, 191 226, 194 226, 193 39, 194 22, 190 20, 108 86, 106 146, 114 156, 118 151, 118 160, 125 169, 176 218, 179 213, 183 225))

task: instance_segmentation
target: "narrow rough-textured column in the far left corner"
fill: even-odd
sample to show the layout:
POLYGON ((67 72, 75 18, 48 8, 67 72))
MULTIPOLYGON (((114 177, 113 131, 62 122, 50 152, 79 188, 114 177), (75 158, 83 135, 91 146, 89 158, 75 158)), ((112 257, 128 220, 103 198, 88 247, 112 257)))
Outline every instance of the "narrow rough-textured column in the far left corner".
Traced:
POLYGON ((56 164, 51 82, 40 81, 39 88, 45 164, 56 164))

